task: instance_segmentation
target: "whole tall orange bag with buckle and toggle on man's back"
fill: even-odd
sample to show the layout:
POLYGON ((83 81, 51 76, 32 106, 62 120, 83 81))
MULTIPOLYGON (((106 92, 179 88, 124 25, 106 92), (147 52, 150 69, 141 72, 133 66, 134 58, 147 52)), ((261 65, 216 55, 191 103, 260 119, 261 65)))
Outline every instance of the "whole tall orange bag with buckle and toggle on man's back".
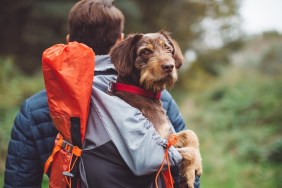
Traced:
POLYGON ((58 130, 44 173, 49 187, 77 187, 85 136, 95 54, 84 44, 57 44, 43 52, 42 71, 52 121, 58 130))

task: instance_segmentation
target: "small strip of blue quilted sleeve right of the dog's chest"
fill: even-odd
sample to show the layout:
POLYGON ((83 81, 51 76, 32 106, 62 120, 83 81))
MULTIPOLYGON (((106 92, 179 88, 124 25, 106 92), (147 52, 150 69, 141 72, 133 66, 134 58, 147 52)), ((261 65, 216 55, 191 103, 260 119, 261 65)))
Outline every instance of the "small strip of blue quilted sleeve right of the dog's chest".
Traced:
POLYGON ((164 90, 161 95, 161 101, 163 107, 166 110, 167 116, 173 125, 176 132, 182 131, 186 128, 183 117, 179 111, 179 108, 167 90, 164 90))

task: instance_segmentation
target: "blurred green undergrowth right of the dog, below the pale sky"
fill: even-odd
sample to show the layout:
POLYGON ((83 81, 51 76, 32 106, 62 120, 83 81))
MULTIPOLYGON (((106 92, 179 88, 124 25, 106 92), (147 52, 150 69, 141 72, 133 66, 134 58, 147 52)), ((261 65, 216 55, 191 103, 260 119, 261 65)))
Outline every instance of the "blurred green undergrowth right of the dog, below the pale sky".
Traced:
POLYGON ((193 68, 182 72, 174 96, 188 128, 200 137, 203 187, 282 186, 281 39, 245 41, 236 58, 229 56, 235 62, 216 75, 198 69, 195 74, 193 68), (258 49, 258 42, 264 48, 258 49), (252 55, 260 61, 254 64, 252 55), (275 64, 275 74, 266 69, 268 64, 275 64))

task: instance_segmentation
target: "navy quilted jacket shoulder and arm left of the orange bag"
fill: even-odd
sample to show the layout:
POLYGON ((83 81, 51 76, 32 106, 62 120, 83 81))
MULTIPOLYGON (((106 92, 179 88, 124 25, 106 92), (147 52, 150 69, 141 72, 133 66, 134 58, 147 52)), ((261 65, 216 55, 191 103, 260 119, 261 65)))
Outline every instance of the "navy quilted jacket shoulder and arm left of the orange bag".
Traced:
POLYGON ((26 99, 12 127, 5 187, 41 185, 43 165, 52 152, 56 134, 49 115, 46 92, 40 91, 26 99))

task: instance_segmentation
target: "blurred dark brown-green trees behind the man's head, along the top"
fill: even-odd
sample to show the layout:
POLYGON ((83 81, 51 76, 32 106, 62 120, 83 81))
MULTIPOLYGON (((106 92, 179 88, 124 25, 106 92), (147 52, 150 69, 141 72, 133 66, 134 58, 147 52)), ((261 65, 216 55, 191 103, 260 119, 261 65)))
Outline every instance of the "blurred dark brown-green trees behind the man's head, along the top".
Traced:
MULTIPOLYGON (((0 6, 0 55, 14 56, 15 64, 25 73, 40 69, 44 49, 56 43, 65 43, 67 15, 75 0, 3 0, 0 6)), ((201 20, 237 15, 236 0, 115 0, 126 17, 125 34, 172 32, 183 51, 192 48, 202 36, 201 20)), ((219 28, 230 33, 227 22, 219 28)))

